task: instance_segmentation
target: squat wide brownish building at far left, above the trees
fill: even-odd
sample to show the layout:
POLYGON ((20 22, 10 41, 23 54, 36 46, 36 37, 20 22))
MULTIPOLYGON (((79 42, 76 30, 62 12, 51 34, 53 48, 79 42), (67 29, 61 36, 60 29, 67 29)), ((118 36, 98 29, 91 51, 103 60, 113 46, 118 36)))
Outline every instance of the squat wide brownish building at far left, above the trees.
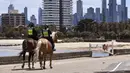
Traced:
POLYGON ((19 25, 25 25, 25 15, 22 14, 2 14, 1 15, 3 31, 5 27, 16 27, 19 25))

